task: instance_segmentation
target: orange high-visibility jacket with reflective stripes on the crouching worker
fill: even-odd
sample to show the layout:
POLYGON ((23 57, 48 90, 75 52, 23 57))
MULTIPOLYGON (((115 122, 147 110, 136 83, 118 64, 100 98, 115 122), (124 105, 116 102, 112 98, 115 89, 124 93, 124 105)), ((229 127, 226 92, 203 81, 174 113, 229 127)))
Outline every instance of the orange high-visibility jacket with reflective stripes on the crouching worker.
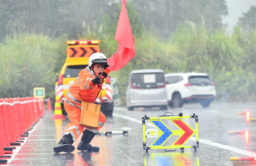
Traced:
MULTIPOLYGON (((106 69, 105 72, 108 74, 110 73, 110 70, 106 69)), ((78 78, 80 97, 86 102, 94 102, 97 99, 102 84, 93 84, 92 80, 95 78, 95 75, 89 66, 80 71, 77 79, 68 89, 67 95, 65 96, 65 102, 81 108, 81 101, 78 97, 78 78)), ((101 79, 102 78, 104 77, 102 76, 101 79)))

